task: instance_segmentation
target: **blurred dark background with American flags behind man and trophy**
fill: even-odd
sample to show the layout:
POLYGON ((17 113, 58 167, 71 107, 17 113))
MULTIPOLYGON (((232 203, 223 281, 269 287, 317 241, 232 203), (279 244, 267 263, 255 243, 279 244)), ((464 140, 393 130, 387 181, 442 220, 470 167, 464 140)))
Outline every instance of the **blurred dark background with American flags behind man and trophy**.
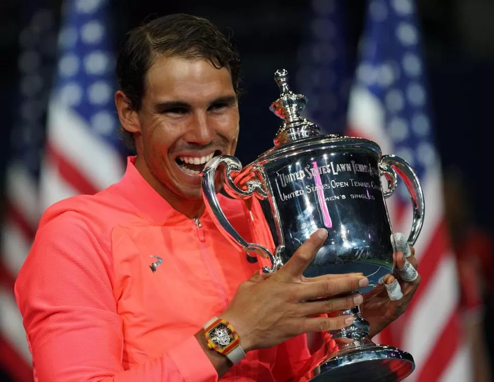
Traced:
MULTIPOLYGON (((373 139, 414 166, 426 197, 423 281, 378 340, 414 355, 408 380, 492 380, 490 0, 2 0, 0 379, 33 380, 12 288, 40 215, 117 181, 131 154, 113 104, 119 41, 149 15, 178 12, 209 19, 240 52, 242 163, 272 146, 273 73, 285 68, 324 132, 373 139)), ((390 215, 406 232, 409 197, 396 194, 390 215)))

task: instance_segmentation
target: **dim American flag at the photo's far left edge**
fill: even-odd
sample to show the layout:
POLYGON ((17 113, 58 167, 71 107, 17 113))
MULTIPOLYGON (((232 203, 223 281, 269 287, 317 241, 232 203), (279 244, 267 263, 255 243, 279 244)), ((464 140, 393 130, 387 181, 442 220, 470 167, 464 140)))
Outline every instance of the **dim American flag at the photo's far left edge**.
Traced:
POLYGON ((0 258, 0 361, 16 381, 33 379, 31 356, 13 286, 40 217, 38 182, 46 108, 57 42, 57 15, 46 2, 25 2, 19 34, 17 112, 6 171, 6 208, 0 258))

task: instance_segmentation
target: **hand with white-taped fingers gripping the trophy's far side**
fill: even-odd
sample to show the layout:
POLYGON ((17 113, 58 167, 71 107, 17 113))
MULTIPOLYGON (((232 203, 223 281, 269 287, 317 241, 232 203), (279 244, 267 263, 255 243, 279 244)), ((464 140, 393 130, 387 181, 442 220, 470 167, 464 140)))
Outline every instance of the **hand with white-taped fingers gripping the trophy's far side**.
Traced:
POLYGON ((384 276, 382 283, 366 294, 362 305, 362 314, 370 324, 370 338, 403 314, 420 284, 414 247, 406 243, 402 233, 395 233, 391 240, 396 271, 384 276))

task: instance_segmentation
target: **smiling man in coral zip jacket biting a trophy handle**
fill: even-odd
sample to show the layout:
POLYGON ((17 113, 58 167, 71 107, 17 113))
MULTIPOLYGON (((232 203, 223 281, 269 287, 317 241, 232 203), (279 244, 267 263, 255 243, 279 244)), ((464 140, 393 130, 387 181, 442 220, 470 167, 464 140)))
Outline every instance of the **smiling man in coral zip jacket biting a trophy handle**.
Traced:
MULTIPOLYGON (((150 21, 127 35, 116 71, 118 115, 137 156, 119 183, 45 212, 16 281, 35 377, 290 380, 309 357, 303 334, 349 325, 351 317, 326 313, 361 304, 345 293, 367 278, 302 276, 325 230, 261 275, 204 212, 199 171, 233 154, 239 132, 239 59, 216 27, 188 15, 150 21), (234 350, 225 355, 222 341, 234 350)), ((249 238, 243 204, 220 200, 249 238)), ((403 252, 416 266, 404 245, 398 268, 408 263, 403 252)), ((399 301, 382 288, 366 312, 372 334, 403 312, 417 285, 402 282, 399 301)))

